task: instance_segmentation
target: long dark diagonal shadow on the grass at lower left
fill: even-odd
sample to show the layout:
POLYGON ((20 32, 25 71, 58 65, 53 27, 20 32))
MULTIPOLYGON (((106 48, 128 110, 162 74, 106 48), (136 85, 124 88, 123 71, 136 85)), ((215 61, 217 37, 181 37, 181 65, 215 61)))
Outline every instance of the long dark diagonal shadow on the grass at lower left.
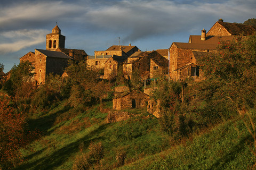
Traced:
MULTIPOLYGON (((93 136, 105 130, 107 125, 108 124, 103 124, 99 126, 98 129, 95 129, 94 131, 85 135, 82 139, 69 143, 69 145, 56 150, 51 155, 45 155, 41 159, 35 160, 34 162, 31 162, 31 163, 22 164, 15 169, 56 169, 57 167, 65 163, 70 156, 75 156, 76 152, 78 152, 78 146, 81 142, 84 142, 85 148, 88 148, 91 141, 97 142, 99 140, 103 140, 103 137, 93 138, 93 136)), ((42 151, 29 155, 27 158, 32 158, 33 156, 37 156, 41 154, 40 152, 42 151)))

